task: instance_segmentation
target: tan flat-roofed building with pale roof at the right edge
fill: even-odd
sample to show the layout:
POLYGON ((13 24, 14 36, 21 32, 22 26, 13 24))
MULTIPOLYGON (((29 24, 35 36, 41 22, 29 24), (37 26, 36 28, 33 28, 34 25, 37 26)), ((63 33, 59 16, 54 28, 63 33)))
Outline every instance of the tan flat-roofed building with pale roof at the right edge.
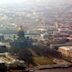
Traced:
POLYGON ((61 52, 63 58, 72 62, 72 46, 59 47, 58 51, 61 52))

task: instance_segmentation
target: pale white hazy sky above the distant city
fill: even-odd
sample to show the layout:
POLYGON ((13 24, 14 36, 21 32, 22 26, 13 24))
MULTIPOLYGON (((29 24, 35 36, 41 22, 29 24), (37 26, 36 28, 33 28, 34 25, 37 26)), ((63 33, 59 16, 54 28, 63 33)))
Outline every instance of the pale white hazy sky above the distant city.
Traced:
POLYGON ((72 4, 72 0, 0 0, 0 6, 13 6, 13 5, 60 5, 72 4))

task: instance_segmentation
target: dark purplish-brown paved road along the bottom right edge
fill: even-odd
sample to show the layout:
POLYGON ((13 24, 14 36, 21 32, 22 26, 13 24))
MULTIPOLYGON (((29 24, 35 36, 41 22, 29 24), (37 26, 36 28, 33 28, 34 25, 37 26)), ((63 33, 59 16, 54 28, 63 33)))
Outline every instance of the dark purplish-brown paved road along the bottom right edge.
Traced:
POLYGON ((45 69, 45 70, 37 70, 35 72, 72 72, 72 67, 70 68, 61 68, 61 69, 45 69))

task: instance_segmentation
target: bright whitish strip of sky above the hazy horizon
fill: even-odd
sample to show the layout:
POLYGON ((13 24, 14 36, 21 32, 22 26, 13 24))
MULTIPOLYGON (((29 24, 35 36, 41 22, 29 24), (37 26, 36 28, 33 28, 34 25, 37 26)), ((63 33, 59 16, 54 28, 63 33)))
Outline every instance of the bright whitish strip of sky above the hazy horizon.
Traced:
POLYGON ((0 4, 51 4, 51 3, 63 3, 63 2, 69 2, 72 3, 72 0, 0 0, 0 4))

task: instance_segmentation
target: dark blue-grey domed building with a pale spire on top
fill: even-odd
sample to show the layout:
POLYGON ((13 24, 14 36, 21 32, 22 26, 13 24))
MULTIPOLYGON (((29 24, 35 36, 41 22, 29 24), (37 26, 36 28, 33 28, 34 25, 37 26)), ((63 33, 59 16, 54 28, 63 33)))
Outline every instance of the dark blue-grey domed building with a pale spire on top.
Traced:
POLYGON ((25 36, 25 32, 23 31, 22 26, 20 27, 18 33, 18 38, 10 43, 13 48, 31 48, 32 47, 32 39, 25 36))

